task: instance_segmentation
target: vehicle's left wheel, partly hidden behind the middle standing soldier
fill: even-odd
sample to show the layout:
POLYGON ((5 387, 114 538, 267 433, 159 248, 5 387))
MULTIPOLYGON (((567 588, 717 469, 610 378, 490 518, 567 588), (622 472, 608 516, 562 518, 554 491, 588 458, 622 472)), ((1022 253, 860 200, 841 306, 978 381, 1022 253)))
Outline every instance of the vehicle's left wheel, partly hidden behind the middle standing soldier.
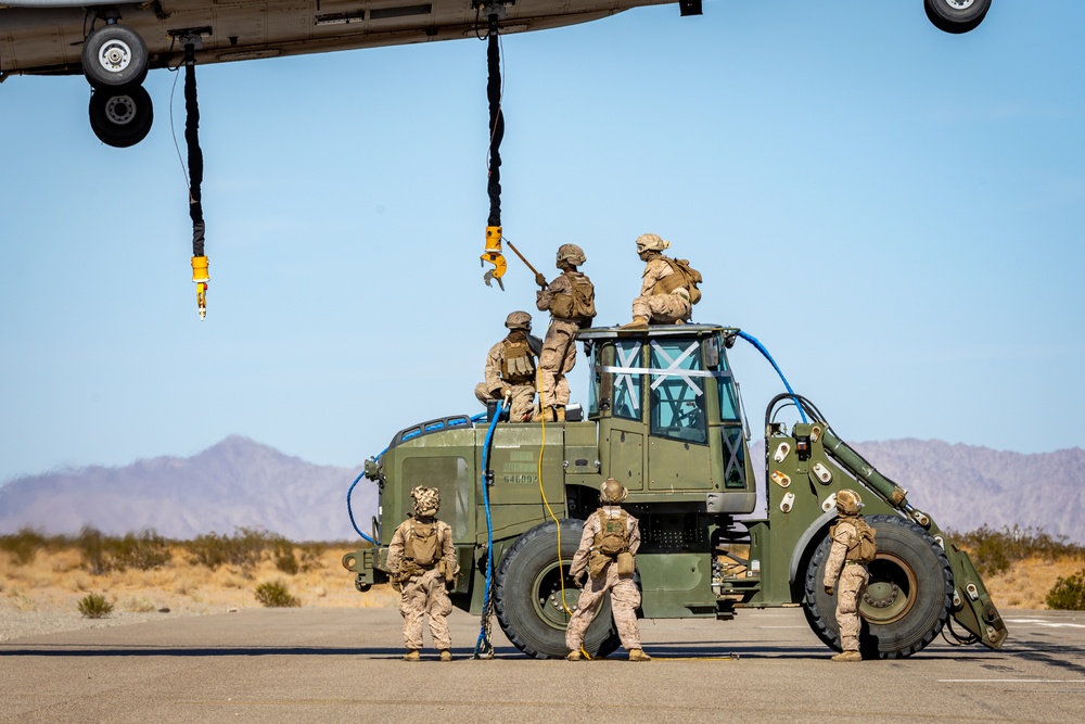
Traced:
MULTIPOLYGON (((561 566, 565 580, 565 606, 570 610, 576 610, 579 590, 569 575, 569 567, 583 532, 583 521, 561 521, 561 566)), ((560 659, 569 652, 565 626, 570 617, 562 606, 556 523, 533 528, 506 551, 497 570, 494 607, 505 635, 527 656, 560 659)), ((588 626, 584 649, 592 658, 602 658, 618 645, 608 597, 588 626)))

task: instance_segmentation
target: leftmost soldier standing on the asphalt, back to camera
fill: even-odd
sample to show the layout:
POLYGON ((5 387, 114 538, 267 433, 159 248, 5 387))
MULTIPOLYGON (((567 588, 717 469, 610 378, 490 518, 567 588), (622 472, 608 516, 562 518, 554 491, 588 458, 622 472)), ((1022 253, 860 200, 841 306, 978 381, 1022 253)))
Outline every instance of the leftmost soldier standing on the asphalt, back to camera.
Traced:
POLYGON ((452 640, 445 619, 452 612, 446 586, 456 584, 459 567, 452 546, 452 529, 437 520, 441 493, 435 487, 410 492, 414 515, 399 524, 388 544, 388 572, 399 592, 404 617, 404 661, 418 661, 422 648, 422 619, 430 618, 430 636, 442 661, 452 660, 452 640))

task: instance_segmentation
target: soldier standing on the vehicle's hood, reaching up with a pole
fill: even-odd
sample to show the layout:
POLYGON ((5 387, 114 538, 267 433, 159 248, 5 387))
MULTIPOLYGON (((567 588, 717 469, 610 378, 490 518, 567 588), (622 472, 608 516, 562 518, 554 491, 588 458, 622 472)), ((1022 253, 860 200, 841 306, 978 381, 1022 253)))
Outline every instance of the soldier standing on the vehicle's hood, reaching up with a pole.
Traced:
POLYGON ((587 275, 576 269, 586 261, 579 246, 562 244, 558 247, 561 275, 551 282, 541 272, 535 275, 535 283, 542 288, 535 293, 535 306, 540 312, 550 312, 550 327, 539 355, 539 396, 547 408, 544 415, 559 422, 565 420, 569 404, 565 376, 576 364, 574 335, 577 330, 590 327, 596 316, 596 288, 587 275))

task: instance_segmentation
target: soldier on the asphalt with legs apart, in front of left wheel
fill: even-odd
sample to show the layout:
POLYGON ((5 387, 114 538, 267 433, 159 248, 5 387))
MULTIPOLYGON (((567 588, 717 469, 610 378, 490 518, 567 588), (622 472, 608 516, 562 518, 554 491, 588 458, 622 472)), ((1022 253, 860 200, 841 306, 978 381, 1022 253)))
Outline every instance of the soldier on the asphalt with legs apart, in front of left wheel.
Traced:
POLYGON ((569 574, 582 588, 576 611, 565 628, 565 646, 570 649, 565 658, 570 661, 580 660, 584 635, 608 592, 614 625, 622 646, 629 652, 629 661, 652 660, 640 648, 640 631, 637 628, 640 592, 633 574, 637 568, 640 526, 636 518, 622 509, 621 504, 628 496, 625 485, 608 478, 599 488, 602 507, 584 522, 580 546, 569 568, 569 574))

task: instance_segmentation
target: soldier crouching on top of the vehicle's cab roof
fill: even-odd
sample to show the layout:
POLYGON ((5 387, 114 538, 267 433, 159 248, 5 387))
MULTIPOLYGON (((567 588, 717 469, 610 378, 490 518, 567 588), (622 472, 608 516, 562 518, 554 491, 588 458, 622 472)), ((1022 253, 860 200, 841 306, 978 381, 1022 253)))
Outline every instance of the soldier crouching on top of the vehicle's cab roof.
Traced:
POLYGON ((633 301, 633 321, 622 329, 648 329, 652 325, 684 325, 701 301, 697 284, 701 274, 686 259, 663 255, 671 246, 658 233, 637 237, 637 255, 646 263, 640 296, 633 301))

